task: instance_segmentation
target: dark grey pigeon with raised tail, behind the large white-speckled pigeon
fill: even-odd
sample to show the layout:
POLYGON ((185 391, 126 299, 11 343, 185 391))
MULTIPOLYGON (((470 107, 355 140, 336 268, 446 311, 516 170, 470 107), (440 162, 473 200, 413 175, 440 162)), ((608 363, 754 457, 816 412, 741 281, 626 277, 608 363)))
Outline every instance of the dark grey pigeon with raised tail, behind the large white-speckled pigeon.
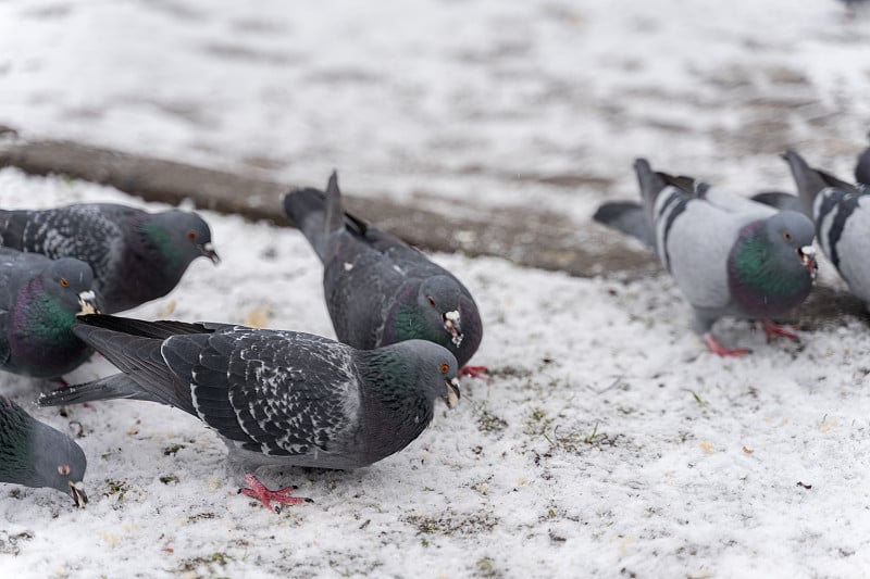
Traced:
POLYGON ((460 375, 485 372, 467 366, 483 338, 469 290, 419 250, 345 212, 335 172, 326 192, 289 192, 284 211, 323 263, 326 307, 340 341, 371 350, 428 340, 453 353, 460 375))

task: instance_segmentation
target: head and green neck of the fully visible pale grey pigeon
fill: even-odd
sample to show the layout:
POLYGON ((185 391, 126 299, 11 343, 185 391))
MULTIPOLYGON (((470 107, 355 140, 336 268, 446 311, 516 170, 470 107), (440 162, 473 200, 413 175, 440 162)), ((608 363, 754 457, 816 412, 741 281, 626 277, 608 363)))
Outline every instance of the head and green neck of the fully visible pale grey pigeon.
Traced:
POLYGON ((729 284, 748 315, 770 317, 799 305, 816 276, 812 222, 781 211, 744 227, 729 255, 729 284))

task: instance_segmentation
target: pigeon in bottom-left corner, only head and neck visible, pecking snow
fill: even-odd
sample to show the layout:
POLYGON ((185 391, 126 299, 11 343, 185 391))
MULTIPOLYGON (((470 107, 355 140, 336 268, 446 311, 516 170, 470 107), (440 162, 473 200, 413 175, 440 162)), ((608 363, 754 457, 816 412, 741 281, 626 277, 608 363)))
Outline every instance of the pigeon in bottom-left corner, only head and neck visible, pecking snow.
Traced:
POLYGON ((50 487, 82 507, 88 502, 82 482, 86 468, 85 453, 73 439, 0 395, 0 482, 50 487))

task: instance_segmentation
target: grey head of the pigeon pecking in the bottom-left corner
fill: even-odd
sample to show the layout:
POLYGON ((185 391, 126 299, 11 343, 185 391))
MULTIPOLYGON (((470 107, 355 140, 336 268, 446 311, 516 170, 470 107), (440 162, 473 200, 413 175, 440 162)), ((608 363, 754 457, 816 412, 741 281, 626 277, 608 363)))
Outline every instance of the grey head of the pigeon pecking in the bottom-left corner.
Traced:
POLYGON ((46 424, 36 420, 33 424, 34 475, 28 484, 57 489, 72 496, 76 506, 85 506, 88 496, 82 481, 88 462, 82 448, 46 424))

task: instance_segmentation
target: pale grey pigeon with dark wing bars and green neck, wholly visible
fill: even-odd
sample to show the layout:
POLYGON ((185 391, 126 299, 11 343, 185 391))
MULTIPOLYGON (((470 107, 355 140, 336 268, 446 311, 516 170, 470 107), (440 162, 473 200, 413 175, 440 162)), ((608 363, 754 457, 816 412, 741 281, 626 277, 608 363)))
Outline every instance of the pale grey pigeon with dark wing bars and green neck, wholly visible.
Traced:
POLYGON ((722 316, 760 318, 768 338, 797 339, 769 318, 810 292, 817 267, 812 223, 691 177, 654 173, 645 159, 634 168, 643 205, 606 203, 594 218, 654 249, 693 306, 694 329, 707 347, 721 356, 749 352, 719 343, 711 328, 722 316))

